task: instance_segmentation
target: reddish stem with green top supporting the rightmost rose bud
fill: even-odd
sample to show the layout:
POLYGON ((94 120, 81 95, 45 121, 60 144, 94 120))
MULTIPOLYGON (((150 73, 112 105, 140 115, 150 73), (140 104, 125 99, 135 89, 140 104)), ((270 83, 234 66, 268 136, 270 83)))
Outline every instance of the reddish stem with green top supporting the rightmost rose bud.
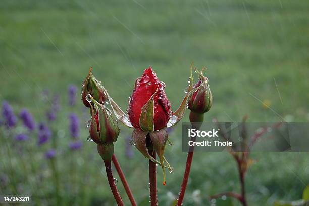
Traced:
MULTIPOLYGON (((194 112, 190 112, 190 122, 191 123, 201 123, 204 120, 204 115, 203 114, 197 114, 194 112)), ((192 125, 192 128, 198 129, 200 127, 201 124, 199 125, 192 125)), ((192 141, 196 140, 196 137, 191 137, 192 141)), ((191 170, 191 164, 192 164, 192 160, 193 160, 193 152, 194 151, 194 146, 190 146, 189 148, 189 152, 187 155, 187 162, 186 162, 186 169, 185 169, 185 173, 182 179, 182 184, 181 184, 181 188, 180 188, 180 192, 179 192, 179 196, 178 196, 178 200, 177 200, 177 206, 182 205, 183 202, 183 198, 186 192, 186 188, 187 188, 187 184, 188 184, 188 180, 189 180, 189 175, 190 175, 190 170, 191 170)))

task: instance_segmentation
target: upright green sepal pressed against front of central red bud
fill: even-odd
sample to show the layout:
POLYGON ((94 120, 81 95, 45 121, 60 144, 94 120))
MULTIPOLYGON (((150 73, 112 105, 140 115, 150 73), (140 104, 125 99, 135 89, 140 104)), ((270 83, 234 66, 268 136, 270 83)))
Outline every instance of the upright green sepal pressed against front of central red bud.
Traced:
POLYGON ((153 115, 155 115, 155 102, 153 98, 157 94, 158 89, 150 97, 147 103, 141 108, 141 113, 139 116, 139 125, 143 131, 154 131, 155 125, 153 123, 153 115))

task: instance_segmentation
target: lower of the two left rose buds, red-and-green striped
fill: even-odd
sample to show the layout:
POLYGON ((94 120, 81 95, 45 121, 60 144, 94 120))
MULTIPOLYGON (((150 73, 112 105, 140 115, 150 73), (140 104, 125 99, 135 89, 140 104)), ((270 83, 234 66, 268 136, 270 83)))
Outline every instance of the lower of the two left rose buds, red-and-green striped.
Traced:
POLYGON ((88 95, 87 101, 91 105, 91 123, 89 126, 90 138, 97 144, 111 144, 116 142, 119 135, 118 123, 112 116, 111 111, 104 105, 98 103, 88 95))

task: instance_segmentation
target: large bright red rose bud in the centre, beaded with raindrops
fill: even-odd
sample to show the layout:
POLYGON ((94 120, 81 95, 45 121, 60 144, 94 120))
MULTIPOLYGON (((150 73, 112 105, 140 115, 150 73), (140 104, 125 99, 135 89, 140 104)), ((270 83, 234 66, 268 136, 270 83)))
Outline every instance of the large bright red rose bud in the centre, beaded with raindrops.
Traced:
POLYGON ((158 80, 151 67, 137 78, 128 114, 134 128, 153 131, 166 127, 172 112, 164 88, 165 84, 158 80))

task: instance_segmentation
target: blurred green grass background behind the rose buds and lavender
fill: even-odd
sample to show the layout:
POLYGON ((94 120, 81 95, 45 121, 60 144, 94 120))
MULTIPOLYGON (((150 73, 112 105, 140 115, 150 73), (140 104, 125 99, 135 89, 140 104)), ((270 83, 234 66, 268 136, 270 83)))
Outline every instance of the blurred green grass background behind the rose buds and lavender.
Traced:
MULTIPOLYGON (((16 112, 28 108, 39 122, 46 121, 49 106, 42 101, 43 91, 60 94, 62 108, 52 127, 61 151, 57 155, 61 194, 69 204, 113 205, 96 146, 87 142, 90 116, 81 102, 75 108, 66 106, 68 85, 79 87, 93 66, 94 75, 125 110, 135 79, 151 66, 166 83, 175 110, 184 96, 193 61, 199 69, 208 68, 205 75, 214 96, 205 121, 237 122, 248 115, 251 122, 307 122, 308 11, 309 2, 301 0, 1 1, 0 101, 8 101, 16 112), (70 112, 82 119, 84 143, 73 155, 67 155, 70 112), (74 170, 68 162, 73 162, 74 170)), ((188 115, 183 119, 187 121, 188 115)), ((124 139, 131 131, 122 126, 121 130, 115 153, 137 201, 147 205, 148 162, 133 146, 134 158, 125 156, 124 139)), ((177 196, 185 167, 181 125, 170 139, 174 144, 167 147, 166 156, 174 174, 167 174, 164 187, 158 170, 160 205, 171 205, 177 196)), ((53 177, 42 157, 44 149, 33 149, 36 159, 12 151, 13 166, 21 191, 33 195, 39 188, 39 200, 34 203, 53 205, 53 177), (30 161, 38 165, 36 174, 19 168, 24 162, 29 171, 30 161)), ((1 155, 6 163, 7 154, 3 151, 1 155)), ((254 153, 252 158, 257 162, 246 176, 249 205, 301 198, 309 183, 308 153, 254 153)), ((128 205, 121 184, 118 186, 128 205)), ((209 195, 238 192, 239 188, 230 154, 199 152, 194 156, 184 205, 210 205, 209 195)), ((9 194, 10 189, 2 193, 9 194)), ((238 202, 228 198, 216 205, 238 202)))

